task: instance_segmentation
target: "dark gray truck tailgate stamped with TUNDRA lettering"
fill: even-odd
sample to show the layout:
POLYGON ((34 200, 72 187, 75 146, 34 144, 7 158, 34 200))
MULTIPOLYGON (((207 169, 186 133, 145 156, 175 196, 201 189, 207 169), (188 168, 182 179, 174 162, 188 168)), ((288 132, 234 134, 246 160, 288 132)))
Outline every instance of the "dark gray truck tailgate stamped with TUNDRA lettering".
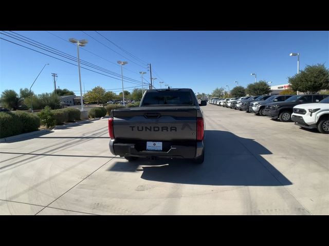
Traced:
POLYGON ((196 107, 137 107, 112 111, 116 139, 196 140, 196 107))

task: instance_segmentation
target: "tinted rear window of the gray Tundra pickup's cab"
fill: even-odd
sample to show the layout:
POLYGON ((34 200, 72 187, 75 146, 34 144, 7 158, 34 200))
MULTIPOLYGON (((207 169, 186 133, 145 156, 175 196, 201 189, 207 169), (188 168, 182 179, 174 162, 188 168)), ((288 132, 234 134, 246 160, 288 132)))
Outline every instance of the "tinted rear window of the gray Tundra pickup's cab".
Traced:
POLYGON ((141 106, 194 105, 189 91, 160 91, 145 94, 141 106))

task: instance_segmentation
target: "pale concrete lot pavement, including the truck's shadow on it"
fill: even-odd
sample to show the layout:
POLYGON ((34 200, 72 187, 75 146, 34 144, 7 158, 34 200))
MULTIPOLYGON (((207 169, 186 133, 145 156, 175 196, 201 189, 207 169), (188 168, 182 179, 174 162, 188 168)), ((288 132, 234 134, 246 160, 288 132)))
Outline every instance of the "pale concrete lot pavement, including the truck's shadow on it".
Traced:
POLYGON ((113 156, 107 119, 1 143, 0 214, 329 214, 329 135, 202 109, 202 165, 113 156))

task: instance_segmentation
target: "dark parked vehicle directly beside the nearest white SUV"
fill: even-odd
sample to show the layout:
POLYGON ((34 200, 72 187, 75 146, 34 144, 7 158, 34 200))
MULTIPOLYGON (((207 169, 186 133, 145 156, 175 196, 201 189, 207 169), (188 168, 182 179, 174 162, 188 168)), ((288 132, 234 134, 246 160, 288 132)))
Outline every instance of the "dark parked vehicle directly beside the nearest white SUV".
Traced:
POLYGON ((279 103, 270 103, 265 106, 264 114, 272 119, 279 118, 282 122, 291 121, 293 108, 299 104, 319 103, 329 95, 295 95, 279 103))

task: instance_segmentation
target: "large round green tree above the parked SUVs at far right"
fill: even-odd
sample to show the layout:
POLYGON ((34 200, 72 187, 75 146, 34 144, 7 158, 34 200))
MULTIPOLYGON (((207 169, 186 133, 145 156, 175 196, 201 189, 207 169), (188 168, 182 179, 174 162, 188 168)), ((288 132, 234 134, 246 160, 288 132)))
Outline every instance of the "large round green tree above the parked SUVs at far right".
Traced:
POLYGON ((324 64, 306 66, 299 74, 288 77, 291 89, 305 94, 314 94, 329 89, 329 69, 324 64))

